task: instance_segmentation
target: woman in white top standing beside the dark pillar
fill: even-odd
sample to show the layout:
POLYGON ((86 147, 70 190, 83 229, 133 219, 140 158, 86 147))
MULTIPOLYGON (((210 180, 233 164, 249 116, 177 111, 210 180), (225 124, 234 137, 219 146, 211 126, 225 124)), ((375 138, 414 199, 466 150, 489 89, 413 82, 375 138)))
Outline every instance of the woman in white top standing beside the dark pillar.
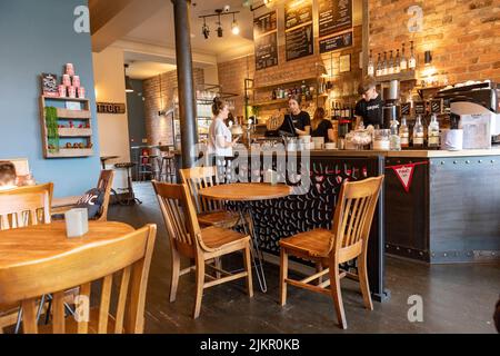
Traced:
POLYGON ((234 147, 239 138, 232 140, 231 131, 224 123, 229 116, 228 103, 219 98, 213 99, 212 113, 212 123, 210 123, 209 128, 208 154, 217 157, 232 156, 232 147, 234 147))

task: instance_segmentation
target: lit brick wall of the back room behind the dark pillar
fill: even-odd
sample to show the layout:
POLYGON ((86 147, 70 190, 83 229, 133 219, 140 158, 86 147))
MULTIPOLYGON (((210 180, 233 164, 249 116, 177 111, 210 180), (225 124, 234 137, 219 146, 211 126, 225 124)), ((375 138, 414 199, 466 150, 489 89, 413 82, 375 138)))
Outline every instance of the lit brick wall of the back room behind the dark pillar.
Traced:
MULTIPOLYGON (((196 87, 203 85, 203 69, 194 69, 193 78, 196 87)), ((143 81, 148 145, 173 144, 172 116, 159 117, 158 111, 172 108, 174 88, 177 88, 177 70, 143 81)))

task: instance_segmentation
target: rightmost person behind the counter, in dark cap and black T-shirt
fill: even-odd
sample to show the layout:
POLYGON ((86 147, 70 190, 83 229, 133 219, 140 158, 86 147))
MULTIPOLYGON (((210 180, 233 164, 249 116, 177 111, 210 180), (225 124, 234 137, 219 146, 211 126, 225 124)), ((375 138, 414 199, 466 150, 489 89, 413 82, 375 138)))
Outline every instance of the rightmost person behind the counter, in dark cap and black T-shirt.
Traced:
POLYGON ((364 77, 362 83, 358 88, 358 93, 362 99, 356 103, 356 127, 359 127, 361 121, 367 127, 377 125, 381 128, 383 126, 382 107, 383 101, 377 92, 377 81, 373 77, 364 77))

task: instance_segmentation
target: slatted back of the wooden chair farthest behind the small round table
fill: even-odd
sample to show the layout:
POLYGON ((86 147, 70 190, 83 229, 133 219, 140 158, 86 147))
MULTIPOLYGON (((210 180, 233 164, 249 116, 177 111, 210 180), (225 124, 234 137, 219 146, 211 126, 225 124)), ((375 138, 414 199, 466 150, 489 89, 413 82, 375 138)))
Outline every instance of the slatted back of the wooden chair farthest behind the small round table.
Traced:
POLYGON ((207 199, 198 194, 200 189, 220 184, 217 167, 193 167, 181 169, 182 182, 188 186, 198 214, 223 209, 222 201, 207 199))

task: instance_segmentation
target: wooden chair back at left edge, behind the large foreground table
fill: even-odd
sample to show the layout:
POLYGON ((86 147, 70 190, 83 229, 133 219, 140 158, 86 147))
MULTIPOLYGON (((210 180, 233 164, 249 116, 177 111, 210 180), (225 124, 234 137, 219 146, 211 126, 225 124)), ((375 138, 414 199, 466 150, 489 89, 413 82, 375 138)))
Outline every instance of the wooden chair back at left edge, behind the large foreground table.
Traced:
POLYGON ((0 192, 0 230, 50 224, 53 184, 0 192))

